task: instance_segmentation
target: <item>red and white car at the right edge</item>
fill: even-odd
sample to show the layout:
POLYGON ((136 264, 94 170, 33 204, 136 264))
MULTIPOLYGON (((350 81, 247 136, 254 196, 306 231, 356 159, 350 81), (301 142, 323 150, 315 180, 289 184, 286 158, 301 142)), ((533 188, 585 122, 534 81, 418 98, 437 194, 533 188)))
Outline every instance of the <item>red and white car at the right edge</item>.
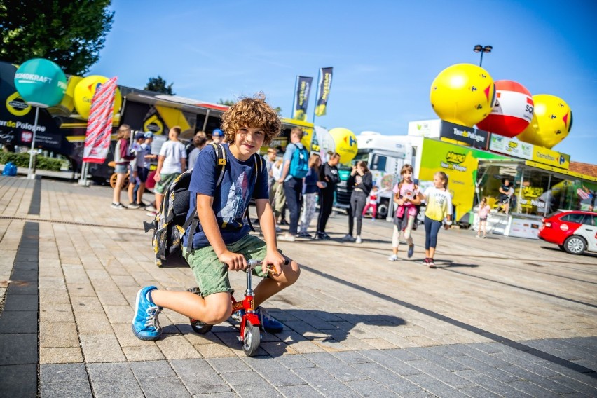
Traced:
POLYGON ((558 210, 543 219, 539 238, 571 254, 597 252, 597 213, 558 210))

